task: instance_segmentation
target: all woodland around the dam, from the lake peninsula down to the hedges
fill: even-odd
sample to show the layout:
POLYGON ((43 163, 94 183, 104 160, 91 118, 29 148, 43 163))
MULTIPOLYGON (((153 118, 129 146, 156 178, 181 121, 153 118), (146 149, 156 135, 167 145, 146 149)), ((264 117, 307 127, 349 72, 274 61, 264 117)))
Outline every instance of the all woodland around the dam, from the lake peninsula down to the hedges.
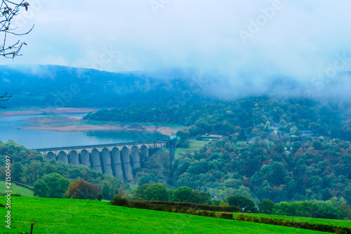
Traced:
MULTIPOLYGON (((265 199, 275 203, 345 200, 351 204, 351 119, 347 110, 347 105, 262 96, 91 112, 85 119, 182 125, 177 136, 178 145, 183 147, 187 138, 204 140, 205 134, 222 135, 197 152, 179 153, 172 164, 173 174, 168 161, 166 179, 158 180, 157 171, 147 168, 147 174, 133 181, 133 188, 84 166, 46 160, 11 141, 1 143, 0 155, 13 158, 15 181, 33 186, 45 174, 57 173, 70 181, 83 179, 98 185, 107 199, 117 193, 146 199, 143 191, 149 187, 143 185, 161 181, 171 189, 164 192, 168 196, 164 200, 173 199, 173 189, 187 186, 206 195, 207 202, 208 195, 221 199, 241 195, 256 204, 265 199), (140 187, 135 190, 136 183, 140 187)), ((161 159, 166 166, 164 160, 169 156, 161 159)), ((0 174, 4 174, 4 167, 0 174)))

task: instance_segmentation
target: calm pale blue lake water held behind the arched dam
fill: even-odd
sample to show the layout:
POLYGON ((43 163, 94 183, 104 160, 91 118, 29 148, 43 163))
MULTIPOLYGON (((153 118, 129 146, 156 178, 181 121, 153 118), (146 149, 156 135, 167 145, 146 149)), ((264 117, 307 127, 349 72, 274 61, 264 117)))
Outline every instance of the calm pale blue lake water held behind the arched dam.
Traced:
MULTIPOLYGON (((54 148, 77 145, 99 145, 124 142, 154 141, 157 139, 168 139, 168 136, 140 131, 42 131, 31 129, 20 129, 22 126, 34 126, 21 120, 38 115, 22 115, 14 117, 0 117, 0 140, 4 143, 9 139, 24 145, 26 148, 54 148)), ((61 115, 61 116, 82 116, 61 115)))

